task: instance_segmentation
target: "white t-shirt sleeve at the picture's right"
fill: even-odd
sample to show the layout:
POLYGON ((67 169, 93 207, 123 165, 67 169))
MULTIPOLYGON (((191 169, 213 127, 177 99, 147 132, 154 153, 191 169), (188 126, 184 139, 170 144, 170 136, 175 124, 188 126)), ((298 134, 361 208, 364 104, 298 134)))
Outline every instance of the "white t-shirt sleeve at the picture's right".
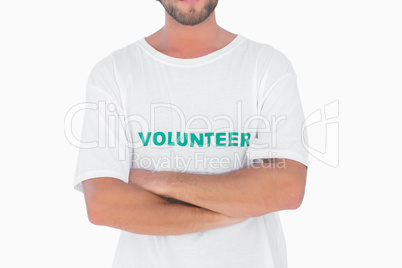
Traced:
POLYGON ((287 158, 306 166, 308 151, 303 145, 304 113, 292 64, 280 52, 274 54, 261 79, 258 92, 258 123, 247 149, 250 161, 287 158))

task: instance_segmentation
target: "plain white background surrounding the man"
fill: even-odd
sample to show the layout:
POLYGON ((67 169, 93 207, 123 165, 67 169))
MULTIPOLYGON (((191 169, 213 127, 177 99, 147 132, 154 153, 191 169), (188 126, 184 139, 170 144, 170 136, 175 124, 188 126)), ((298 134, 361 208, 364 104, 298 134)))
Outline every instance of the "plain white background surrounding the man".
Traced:
MULTIPOLYGON (((306 115, 339 102, 339 135, 326 147, 325 122, 309 132, 315 148, 339 140, 321 150, 339 164, 311 157, 302 207, 282 213, 290 268, 402 267, 398 4, 218 4, 218 24, 292 61, 306 115)), ((119 232, 86 218, 64 117, 98 60, 163 22, 155 0, 1 2, 0 267, 111 267, 119 232)))

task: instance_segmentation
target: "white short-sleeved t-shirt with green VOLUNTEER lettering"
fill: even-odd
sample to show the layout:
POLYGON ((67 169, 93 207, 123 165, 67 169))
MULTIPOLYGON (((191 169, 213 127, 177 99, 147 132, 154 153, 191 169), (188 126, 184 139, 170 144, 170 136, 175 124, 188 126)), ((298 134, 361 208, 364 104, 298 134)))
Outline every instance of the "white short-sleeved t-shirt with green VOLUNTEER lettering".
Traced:
MULTIPOLYGON (((279 51, 242 35, 208 55, 165 55, 144 38, 89 75, 74 188, 94 177, 128 182, 130 168, 217 174, 252 159, 308 166, 296 75, 279 51)), ((184 235, 121 232, 115 268, 284 268, 277 212, 184 235)))

